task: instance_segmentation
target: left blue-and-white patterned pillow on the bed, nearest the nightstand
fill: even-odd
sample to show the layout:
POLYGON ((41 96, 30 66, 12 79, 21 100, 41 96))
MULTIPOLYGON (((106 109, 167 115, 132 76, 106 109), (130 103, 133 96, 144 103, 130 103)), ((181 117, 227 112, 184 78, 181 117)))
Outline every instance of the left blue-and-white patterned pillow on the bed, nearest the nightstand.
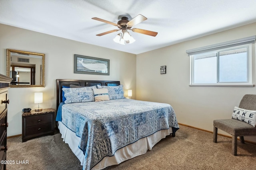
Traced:
POLYGON ((80 103, 80 102, 93 102, 94 101, 94 88, 96 86, 83 87, 83 88, 63 88, 67 103, 80 103))

